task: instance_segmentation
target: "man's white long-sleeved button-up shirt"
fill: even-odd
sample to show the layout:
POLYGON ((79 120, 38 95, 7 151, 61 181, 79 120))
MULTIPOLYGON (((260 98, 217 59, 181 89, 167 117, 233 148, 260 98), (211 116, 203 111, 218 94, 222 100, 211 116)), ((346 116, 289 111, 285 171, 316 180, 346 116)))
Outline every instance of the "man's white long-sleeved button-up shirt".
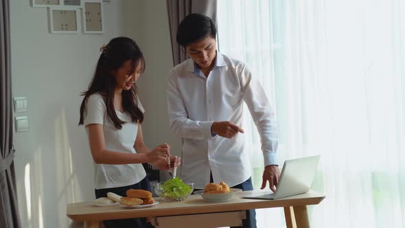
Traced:
MULTIPOLYGON (((216 62, 206 77, 192 59, 174 67, 167 76, 167 106, 170 128, 183 138, 181 179, 203 189, 213 181, 238 185, 251 176, 251 163, 244 135, 227 139, 211 134, 213 122, 242 125, 246 102, 262 141, 264 165, 277 164, 275 113, 243 62, 217 52, 216 62)), ((243 126, 242 126, 243 128, 243 126)))

